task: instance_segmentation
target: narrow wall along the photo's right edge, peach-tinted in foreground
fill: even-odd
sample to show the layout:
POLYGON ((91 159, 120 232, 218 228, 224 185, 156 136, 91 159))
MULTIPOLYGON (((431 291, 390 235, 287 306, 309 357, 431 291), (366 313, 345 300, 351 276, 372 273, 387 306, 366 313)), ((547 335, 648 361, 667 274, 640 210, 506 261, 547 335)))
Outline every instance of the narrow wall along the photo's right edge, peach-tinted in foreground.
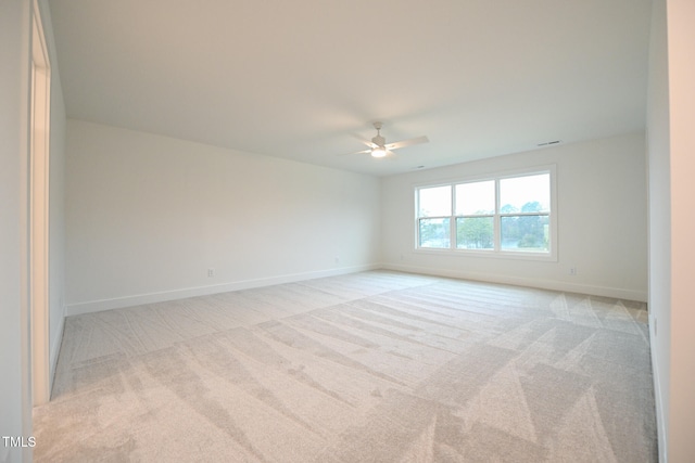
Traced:
POLYGON ((648 91, 649 316, 662 462, 695 461, 695 4, 653 3, 648 91))

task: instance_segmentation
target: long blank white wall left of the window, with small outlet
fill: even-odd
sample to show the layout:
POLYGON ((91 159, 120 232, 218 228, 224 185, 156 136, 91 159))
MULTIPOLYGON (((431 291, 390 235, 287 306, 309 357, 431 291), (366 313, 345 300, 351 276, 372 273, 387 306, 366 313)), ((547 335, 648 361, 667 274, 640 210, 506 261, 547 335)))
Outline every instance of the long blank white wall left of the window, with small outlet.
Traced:
POLYGON ((72 119, 66 159, 68 314, 379 260, 374 177, 72 119))

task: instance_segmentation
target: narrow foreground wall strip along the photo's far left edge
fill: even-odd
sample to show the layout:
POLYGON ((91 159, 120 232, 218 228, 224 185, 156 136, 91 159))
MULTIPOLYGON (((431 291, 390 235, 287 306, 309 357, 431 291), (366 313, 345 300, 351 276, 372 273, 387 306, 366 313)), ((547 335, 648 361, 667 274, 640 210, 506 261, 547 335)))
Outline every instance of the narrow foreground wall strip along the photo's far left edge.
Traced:
MULTIPOLYGON (((29 2, 0 2, 0 436, 28 436, 28 320, 22 223, 28 159, 29 2)), ((25 455, 27 452, 24 452, 25 455)), ((23 451, 0 446, 0 462, 23 451)))

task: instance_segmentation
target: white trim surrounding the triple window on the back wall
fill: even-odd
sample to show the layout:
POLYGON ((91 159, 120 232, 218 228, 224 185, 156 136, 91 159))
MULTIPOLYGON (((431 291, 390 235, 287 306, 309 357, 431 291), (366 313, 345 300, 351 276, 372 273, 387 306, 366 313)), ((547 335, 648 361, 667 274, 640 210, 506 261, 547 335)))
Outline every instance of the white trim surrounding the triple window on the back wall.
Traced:
MULTIPOLYGON (((514 170, 505 170, 503 172, 492 172, 492 173, 483 173, 476 176, 467 176, 467 177, 456 177, 452 179, 447 179, 445 181, 437 181, 437 182, 427 182, 427 183, 417 183, 413 185, 413 197, 414 197, 414 244, 415 252, 418 254, 430 254, 430 255, 447 255, 447 256, 462 256, 462 257, 481 257, 481 258, 502 258, 502 259, 519 259, 519 260, 540 260, 540 261, 557 261, 557 249, 558 249, 558 233, 557 233, 557 216, 558 216, 558 202, 557 202, 557 166, 555 164, 543 165, 529 167, 523 169, 514 169, 514 170), (455 195, 455 185, 460 183, 470 183, 477 181, 485 181, 485 180, 494 180, 495 181, 495 202, 500 201, 500 180, 515 177, 526 177, 532 176, 534 173, 549 173, 551 175, 551 211, 548 214, 548 233, 549 233, 549 250, 547 253, 538 253, 538 252, 527 252, 527 250, 504 250, 501 247, 497 249, 467 249, 467 248, 456 248, 452 247, 455 243, 455 222, 456 218, 460 216, 454 215, 456 207, 456 195, 455 195), (418 191, 425 188, 435 188, 435 187, 452 187, 452 215, 451 216, 442 216, 441 218, 450 218, 450 235, 451 235, 451 245, 446 248, 437 248, 437 247, 420 247, 419 245, 419 219, 418 217, 418 191)), ((500 218, 502 215, 498 213, 500 205, 495 205, 495 214, 494 214, 494 230, 498 230, 500 227, 500 218)), ((520 214, 514 214, 516 216, 520 214)), ((532 214, 530 214, 532 215, 532 214)), ((431 217, 431 218, 440 218, 440 217, 431 217)), ((495 242, 498 240, 498 234, 495 233, 494 237, 495 242)), ((500 243, 495 243, 495 246, 500 246, 500 243)))

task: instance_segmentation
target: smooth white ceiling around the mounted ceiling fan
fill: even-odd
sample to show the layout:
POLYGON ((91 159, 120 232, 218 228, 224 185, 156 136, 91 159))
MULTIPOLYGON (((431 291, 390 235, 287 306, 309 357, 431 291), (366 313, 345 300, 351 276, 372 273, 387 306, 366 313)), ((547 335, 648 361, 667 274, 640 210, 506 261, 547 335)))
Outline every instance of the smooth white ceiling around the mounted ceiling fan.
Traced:
POLYGON ((49 5, 72 118, 377 176, 645 126, 649 0, 49 5))

